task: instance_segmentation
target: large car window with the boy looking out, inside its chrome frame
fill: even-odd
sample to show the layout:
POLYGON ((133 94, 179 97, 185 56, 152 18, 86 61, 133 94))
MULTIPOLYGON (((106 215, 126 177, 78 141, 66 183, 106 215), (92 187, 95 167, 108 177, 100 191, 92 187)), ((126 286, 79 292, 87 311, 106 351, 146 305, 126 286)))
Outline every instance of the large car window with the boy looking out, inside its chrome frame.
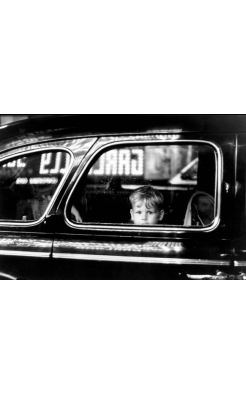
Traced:
POLYGON ((209 144, 113 147, 87 168, 67 216, 74 223, 204 228, 216 216, 216 169, 209 144), (154 214, 153 222, 140 221, 154 214))

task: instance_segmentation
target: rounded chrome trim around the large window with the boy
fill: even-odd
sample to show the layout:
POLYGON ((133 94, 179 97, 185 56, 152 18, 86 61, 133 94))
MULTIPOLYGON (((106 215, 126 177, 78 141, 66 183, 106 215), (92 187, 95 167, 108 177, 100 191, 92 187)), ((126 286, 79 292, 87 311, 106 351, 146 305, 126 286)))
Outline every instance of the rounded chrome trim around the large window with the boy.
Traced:
MULTIPOLYGON (((163 134, 163 136, 165 136, 165 134, 163 134)), ((79 230, 92 229, 92 230, 97 230, 97 231, 102 231, 102 230, 109 230, 109 231, 120 230, 123 233, 124 232, 128 232, 129 230, 130 231, 135 231, 135 232, 138 232, 138 233, 146 230, 146 231, 148 231, 150 233, 161 232, 161 233, 165 234, 165 233, 170 233, 170 232, 184 233, 184 232, 187 232, 187 231, 188 232, 192 232, 192 233, 193 232, 206 232, 207 233, 207 232, 213 231, 214 229, 216 229, 218 227, 219 222, 220 222, 220 211, 221 211, 221 179, 222 179, 222 155, 221 155, 221 150, 216 144, 211 143, 210 141, 190 140, 190 139, 189 140, 172 140, 172 139, 163 139, 162 140, 162 139, 160 139, 160 143, 163 142, 163 143, 168 143, 170 145, 175 145, 175 144, 178 144, 178 143, 182 143, 182 144, 184 144, 184 143, 185 144, 196 144, 197 143, 199 145, 206 144, 206 145, 212 146, 214 148, 214 150, 215 150, 215 152, 217 154, 216 175, 215 175, 216 176, 216 190, 215 190, 215 193, 217 193, 217 196, 216 196, 216 198, 217 198, 216 199, 217 213, 216 213, 214 222, 213 222, 213 224, 211 226, 208 226, 206 228, 193 229, 191 227, 185 227, 185 226, 175 227, 175 225, 174 225, 174 227, 170 227, 170 226, 168 227, 167 226, 164 229, 161 229, 160 227, 158 227, 158 228, 156 227, 155 228, 153 226, 152 227, 147 227, 147 226, 146 227, 138 227, 138 226, 134 226, 134 225, 132 225, 132 226, 125 226, 125 225, 119 226, 119 225, 110 225, 110 224, 107 224, 107 225, 99 225, 99 224, 96 224, 96 225, 91 225, 91 224, 83 225, 83 224, 74 224, 73 222, 71 222, 67 218, 67 208, 68 208, 69 201, 70 201, 71 196, 72 196, 75 188, 77 187, 77 184, 79 183, 81 177, 85 173, 86 169, 90 166, 91 162, 93 161, 93 159, 95 158, 96 155, 98 155, 101 151, 104 151, 105 149, 110 148, 110 147, 114 147, 114 146, 121 146, 121 145, 125 145, 125 144, 131 144, 131 145, 139 145, 139 144, 156 145, 158 143, 158 140, 157 141, 148 140, 148 139, 144 140, 144 138, 146 138, 147 136, 134 136, 134 138, 136 137, 136 139, 139 138, 139 140, 137 140, 137 141, 129 140, 129 139, 127 139, 127 137, 126 137, 126 140, 123 140, 124 137, 126 137, 126 136, 123 136, 122 140, 120 139, 120 141, 117 140, 117 141, 114 141, 114 142, 106 143, 106 144, 104 144, 102 146, 99 145, 99 147, 96 147, 95 152, 91 155, 91 157, 89 158, 88 161, 86 161, 86 159, 87 159, 86 156, 84 157, 84 159, 83 159, 83 164, 84 164, 83 169, 81 170, 81 173, 80 173, 79 177, 77 178, 77 181, 75 182, 75 184, 74 184, 74 186, 73 186, 73 188, 72 188, 72 190, 71 190, 71 192, 70 192, 70 194, 69 194, 69 196, 67 198, 67 201, 66 201, 66 204, 65 204, 65 209, 64 209, 65 222, 70 228, 72 228, 72 229, 79 229, 79 230)), ((153 136, 153 137, 156 138, 156 136, 153 136)), ((99 141, 100 141, 100 139, 99 139, 99 141)))

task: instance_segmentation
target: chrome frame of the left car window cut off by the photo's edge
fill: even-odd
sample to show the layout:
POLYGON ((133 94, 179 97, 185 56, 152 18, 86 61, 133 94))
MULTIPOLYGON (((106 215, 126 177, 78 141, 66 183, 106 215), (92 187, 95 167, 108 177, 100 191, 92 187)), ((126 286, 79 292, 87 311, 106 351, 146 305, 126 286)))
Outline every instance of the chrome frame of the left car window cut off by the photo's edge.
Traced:
POLYGON ((50 143, 50 144, 52 144, 52 146, 50 146, 50 147, 49 147, 49 143, 48 144, 47 143, 44 144, 45 146, 43 146, 43 147, 39 146, 39 148, 34 148, 33 146, 31 146, 31 147, 23 147, 23 148, 20 148, 18 150, 18 152, 16 152, 17 150, 15 150, 14 153, 12 152, 11 154, 4 155, 4 156, 2 156, 0 158, 0 165, 1 165, 2 162, 8 161, 8 160, 9 161, 15 160, 15 158, 20 157, 21 155, 25 155, 24 153, 26 153, 26 155, 32 155, 32 154, 36 154, 36 153, 39 153, 39 152, 42 152, 42 153, 51 152, 51 151, 66 152, 66 153, 68 153, 70 155, 70 158, 71 158, 68 170, 66 171, 66 173, 64 173, 63 177, 61 178, 61 181, 60 181, 58 187, 56 188, 56 191, 55 191, 54 195, 52 196, 52 199, 51 199, 50 203, 48 204, 44 214, 39 219, 31 220, 31 221, 28 221, 28 222, 23 222, 23 221, 14 220, 14 219, 9 219, 9 220, 1 220, 0 219, 0 227, 2 227, 2 226, 6 226, 6 227, 7 226, 8 227, 16 227, 16 226, 18 226, 18 227, 28 228, 28 227, 33 227, 33 226, 39 225, 40 223, 42 223, 44 221, 44 219, 47 216, 48 212, 52 209, 52 207, 53 207, 53 205, 54 205, 54 203, 55 203, 55 201, 57 199, 57 196, 59 195, 62 187, 64 186, 64 184, 65 184, 65 182, 66 182, 66 180, 68 178, 68 175, 70 174, 71 169, 74 166, 75 158, 74 158, 73 152, 70 149, 64 148, 64 147, 59 147, 59 146, 55 147, 54 143, 50 143))

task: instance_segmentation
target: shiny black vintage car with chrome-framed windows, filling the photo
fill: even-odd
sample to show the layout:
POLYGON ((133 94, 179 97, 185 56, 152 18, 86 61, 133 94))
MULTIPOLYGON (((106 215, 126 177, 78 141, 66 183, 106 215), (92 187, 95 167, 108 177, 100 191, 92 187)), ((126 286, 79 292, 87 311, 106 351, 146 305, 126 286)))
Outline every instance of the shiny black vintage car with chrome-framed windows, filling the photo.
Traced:
POLYGON ((0 278, 246 279, 245 185, 244 115, 2 126, 0 278), (132 216, 144 186, 163 198, 154 224, 132 216))

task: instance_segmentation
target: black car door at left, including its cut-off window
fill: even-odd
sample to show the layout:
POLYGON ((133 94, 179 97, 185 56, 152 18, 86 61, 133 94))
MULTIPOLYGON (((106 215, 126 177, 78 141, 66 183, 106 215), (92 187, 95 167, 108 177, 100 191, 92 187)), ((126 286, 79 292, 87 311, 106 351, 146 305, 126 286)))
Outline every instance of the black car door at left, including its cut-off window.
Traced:
POLYGON ((54 228, 48 219, 94 141, 61 139, 1 155, 0 278, 51 278, 54 228))

